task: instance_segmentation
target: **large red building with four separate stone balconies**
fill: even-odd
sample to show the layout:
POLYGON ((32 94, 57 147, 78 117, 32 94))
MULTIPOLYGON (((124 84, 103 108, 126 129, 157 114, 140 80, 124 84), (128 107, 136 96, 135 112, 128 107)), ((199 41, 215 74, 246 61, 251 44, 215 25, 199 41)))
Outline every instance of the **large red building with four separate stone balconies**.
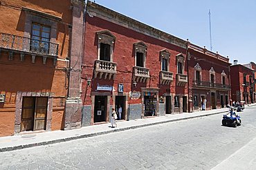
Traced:
POLYGON ((82 125, 188 111, 187 41, 88 1, 82 125))

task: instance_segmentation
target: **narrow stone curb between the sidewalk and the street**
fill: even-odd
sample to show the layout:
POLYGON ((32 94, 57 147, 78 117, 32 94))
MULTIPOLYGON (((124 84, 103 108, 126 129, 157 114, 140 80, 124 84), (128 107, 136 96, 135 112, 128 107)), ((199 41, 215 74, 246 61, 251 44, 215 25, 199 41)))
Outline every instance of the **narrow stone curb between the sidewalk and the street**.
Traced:
POLYGON ((5 147, 5 148, 0 149, 0 153, 1 152, 6 152, 6 151, 15 151, 15 150, 18 150, 18 149, 26 149, 26 148, 30 148, 30 147, 38 147, 38 146, 43 146, 43 145, 48 145, 48 144, 56 144, 56 143, 60 143, 60 142, 67 142, 67 141, 71 141, 71 140, 78 140, 78 139, 82 139, 82 138, 90 138, 90 137, 94 137, 94 136, 97 136, 97 135, 105 135, 105 134, 109 134, 109 133, 115 133, 115 132, 118 132, 118 131, 127 131, 127 130, 130 130, 130 129, 138 129, 138 128, 142 128, 142 127, 146 127, 146 126, 153 126, 153 125, 156 125, 156 124, 165 124, 165 123, 169 123, 169 122, 178 122, 178 121, 181 121, 181 120, 189 120, 189 119, 198 118, 198 117, 205 117, 205 116, 209 116, 209 115, 217 115, 217 114, 225 113, 225 112, 226 111, 220 111, 220 112, 217 112, 217 113, 208 113, 208 114, 205 114, 205 115, 195 115, 195 116, 191 116, 191 117, 183 117, 183 118, 178 118, 178 119, 174 119, 174 120, 165 120, 165 121, 162 121, 162 122, 154 122, 154 123, 149 123, 149 124, 129 126, 129 127, 126 127, 126 128, 121 128, 121 129, 113 129, 113 131, 102 131, 102 132, 90 133, 90 134, 86 134, 86 135, 78 135, 78 136, 63 138, 63 139, 58 139, 58 140, 38 142, 38 143, 35 143, 35 144, 24 144, 24 145, 18 145, 18 146, 15 146, 15 147, 5 147))

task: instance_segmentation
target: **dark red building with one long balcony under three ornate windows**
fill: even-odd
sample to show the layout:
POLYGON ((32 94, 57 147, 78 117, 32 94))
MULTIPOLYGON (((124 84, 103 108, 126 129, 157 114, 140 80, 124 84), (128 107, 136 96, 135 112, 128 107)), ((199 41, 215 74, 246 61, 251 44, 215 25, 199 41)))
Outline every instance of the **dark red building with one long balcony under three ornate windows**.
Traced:
POLYGON ((190 44, 188 54, 192 111, 223 108, 230 104, 228 57, 194 44, 190 44))

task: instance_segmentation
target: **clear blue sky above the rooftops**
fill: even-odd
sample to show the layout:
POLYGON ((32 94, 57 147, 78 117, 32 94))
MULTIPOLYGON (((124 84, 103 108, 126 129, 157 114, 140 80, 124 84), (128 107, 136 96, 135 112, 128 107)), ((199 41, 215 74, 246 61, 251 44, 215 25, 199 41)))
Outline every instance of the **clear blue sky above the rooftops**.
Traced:
POLYGON ((106 8, 136 19, 212 52, 256 63, 255 0, 95 0, 106 8))

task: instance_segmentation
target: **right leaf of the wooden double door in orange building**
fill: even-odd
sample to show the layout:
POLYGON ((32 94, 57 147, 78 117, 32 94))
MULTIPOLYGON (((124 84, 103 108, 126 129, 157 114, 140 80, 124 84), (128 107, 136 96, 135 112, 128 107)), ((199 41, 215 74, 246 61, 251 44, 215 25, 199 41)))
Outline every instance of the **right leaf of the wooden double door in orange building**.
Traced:
POLYGON ((37 97, 37 100, 35 102, 36 104, 35 104, 34 131, 44 130, 46 127, 48 98, 37 97))

